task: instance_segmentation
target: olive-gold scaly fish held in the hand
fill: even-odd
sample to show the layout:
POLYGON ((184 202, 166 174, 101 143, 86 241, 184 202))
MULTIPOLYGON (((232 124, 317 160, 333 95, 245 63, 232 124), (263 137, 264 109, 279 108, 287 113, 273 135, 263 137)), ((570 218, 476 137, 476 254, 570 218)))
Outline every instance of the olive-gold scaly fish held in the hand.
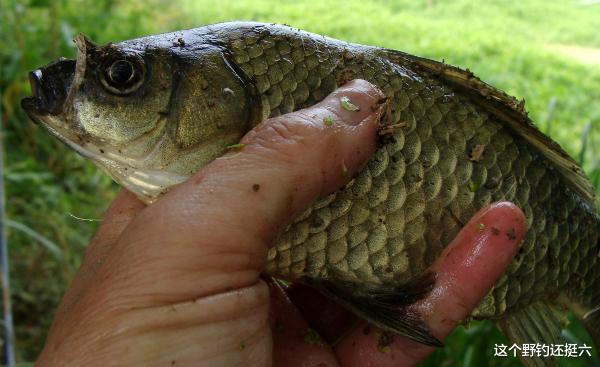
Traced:
MULTIPOLYGON (((482 207, 512 201, 528 232, 471 317, 517 344, 558 344, 565 309, 600 347, 600 217, 577 163, 524 103, 471 71, 285 25, 228 22, 98 45, 30 73, 30 118, 152 203, 270 117, 353 79, 387 98, 380 144, 268 253, 266 273, 311 285, 385 331, 439 346, 405 312, 482 207)), ((528 365, 547 360, 527 358, 528 365)))

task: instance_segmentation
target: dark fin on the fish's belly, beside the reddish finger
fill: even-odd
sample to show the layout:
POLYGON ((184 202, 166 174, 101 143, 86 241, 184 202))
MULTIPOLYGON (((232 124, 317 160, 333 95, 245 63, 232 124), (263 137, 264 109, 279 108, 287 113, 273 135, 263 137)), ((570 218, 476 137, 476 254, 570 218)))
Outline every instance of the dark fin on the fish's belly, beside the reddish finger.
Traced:
POLYGON ((429 294, 435 283, 433 273, 426 273, 399 287, 359 283, 342 277, 303 278, 302 282, 384 331, 406 336, 425 345, 443 346, 431 335, 422 317, 407 307, 429 294))

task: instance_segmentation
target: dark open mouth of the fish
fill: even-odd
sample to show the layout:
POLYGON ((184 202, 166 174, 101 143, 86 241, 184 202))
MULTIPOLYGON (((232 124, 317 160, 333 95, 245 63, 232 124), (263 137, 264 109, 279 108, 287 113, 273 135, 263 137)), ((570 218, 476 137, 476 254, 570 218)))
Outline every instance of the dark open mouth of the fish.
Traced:
POLYGON ((33 97, 24 98, 21 106, 36 122, 39 116, 61 114, 74 76, 75 61, 65 58, 30 72, 33 97))

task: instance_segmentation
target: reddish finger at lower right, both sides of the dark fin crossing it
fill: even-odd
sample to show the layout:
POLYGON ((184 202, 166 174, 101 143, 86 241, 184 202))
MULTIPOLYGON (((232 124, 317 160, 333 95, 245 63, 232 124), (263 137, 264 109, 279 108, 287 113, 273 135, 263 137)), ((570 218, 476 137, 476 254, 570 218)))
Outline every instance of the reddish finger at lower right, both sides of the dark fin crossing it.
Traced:
MULTIPOLYGON (((414 305, 435 337, 443 340, 471 314, 513 259, 525 231, 519 208, 496 203, 479 211, 443 251, 430 268, 434 289, 414 305)), ((404 337, 365 332, 364 326, 336 347, 342 366, 412 366, 434 350, 404 337)))

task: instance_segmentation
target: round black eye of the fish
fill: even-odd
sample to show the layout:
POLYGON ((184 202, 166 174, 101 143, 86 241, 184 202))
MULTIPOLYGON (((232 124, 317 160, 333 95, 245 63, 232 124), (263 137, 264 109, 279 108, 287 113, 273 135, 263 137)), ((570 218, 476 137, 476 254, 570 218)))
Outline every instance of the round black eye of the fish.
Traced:
POLYGON ((140 57, 112 59, 104 63, 100 82, 109 92, 129 94, 143 83, 146 68, 140 57))

